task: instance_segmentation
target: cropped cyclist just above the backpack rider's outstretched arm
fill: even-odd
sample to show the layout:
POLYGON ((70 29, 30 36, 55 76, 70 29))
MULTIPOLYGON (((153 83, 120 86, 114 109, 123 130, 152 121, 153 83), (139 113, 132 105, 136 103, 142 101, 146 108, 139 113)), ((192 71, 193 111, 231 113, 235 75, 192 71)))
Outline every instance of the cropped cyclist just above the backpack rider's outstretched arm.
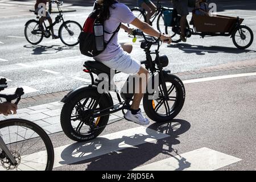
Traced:
POLYGON ((138 6, 142 7, 147 11, 146 14, 146 22, 152 26, 152 22, 150 22, 150 18, 155 14, 157 7, 150 0, 138 0, 138 6))

